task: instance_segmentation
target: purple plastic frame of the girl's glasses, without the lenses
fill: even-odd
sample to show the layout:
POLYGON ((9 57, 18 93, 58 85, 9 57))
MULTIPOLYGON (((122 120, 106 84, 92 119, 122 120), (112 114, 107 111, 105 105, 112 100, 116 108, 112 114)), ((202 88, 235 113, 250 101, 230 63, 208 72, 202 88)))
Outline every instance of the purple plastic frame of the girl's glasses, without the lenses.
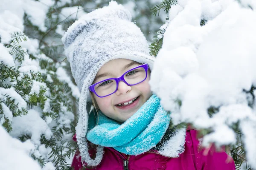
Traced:
POLYGON ((149 67, 148 67, 148 64, 143 64, 143 65, 139 65, 138 67, 131 68, 130 70, 126 71, 126 72, 125 72, 122 76, 120 76, 120 77, 104 79, 104 80, 102 80, 102 81, 100 81, 100 82, 96 82, 96 83, 94 83, 93 85, 90 85, 89 90, 90 90, 91 92, 93 92, 94 94, 96 94, 96 96, 102 98, 102 97, 110 96, 111 94, 116 93, 116 91, 118 90, 118 85, 119 85, 119 82, 120 82, 120 81, 125 82, 125 84, 128 85, 128 86, 137 85, 137 84, 139 84, 139 83, 145 81, 145 79, 143 79, 142 81, 140 81, 140 82, 138 82, 138 83, 136 83, 136 84, 129 84, 128 82, 125 81, 124 76, 125 76, 125 74, 127 74, 128 72, 130 72, 130 71, 132 71, 132 70, 134 70, 134 69, 136 69, 136 68, 140 68, 140 67, 144 68, 144 70, 145 70, 145 72, 146 72, 146 77, 145 77, 145 79, 147 79, 147 77, 148 77, 148 68, 149 68, 149 67), (113 93, 108 94, 108 95, 106 95, 106 96, 99 96, 99 95, 96 93, 96 91, 94 90, 94 87, 95 87, 96 85, 98 85, 99 83, 105 82, 105 81, 110 80, 110 79, 113 79, 113 80, 116 81, 116 90, 115 90, 113 93))

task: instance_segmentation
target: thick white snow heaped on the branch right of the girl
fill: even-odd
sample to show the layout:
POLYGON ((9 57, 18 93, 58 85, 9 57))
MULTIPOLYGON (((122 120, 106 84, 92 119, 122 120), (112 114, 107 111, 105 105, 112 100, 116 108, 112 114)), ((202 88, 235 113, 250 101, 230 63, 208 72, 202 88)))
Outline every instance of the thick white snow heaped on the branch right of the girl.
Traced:
POLYGON ((204 136, 204 145, 234 144, 231 127, 239 122, 253 167, 256 110, 248 106, 252 97, 243 90, 256 85, 256 12, 251 10, 255 4, 253 0, 241 0, 241 4, 235 0, 179 0, 163 26, 167 27, 163 46, 150 80, 163 107, 172 111, 174 124, 189 122, 213 130, 204 136), (205 26, 200 26, 201 19, 208 20, 205 26), (212 117, 207 113, 210 106, 219 108, 212 117))

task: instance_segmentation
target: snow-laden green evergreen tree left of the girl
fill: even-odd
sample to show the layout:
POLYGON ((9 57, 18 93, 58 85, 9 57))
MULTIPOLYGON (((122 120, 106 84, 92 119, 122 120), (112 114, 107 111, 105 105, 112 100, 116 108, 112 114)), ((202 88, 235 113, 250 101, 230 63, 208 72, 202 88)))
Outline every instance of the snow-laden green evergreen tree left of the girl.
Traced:
POLYGON ((67 63, 37 48, 22 26, 1 24, 7 31, 0 27, 0 123, 11 136, 32 144, 30 156, 42 168, 70 169, 79 91, 67 63))

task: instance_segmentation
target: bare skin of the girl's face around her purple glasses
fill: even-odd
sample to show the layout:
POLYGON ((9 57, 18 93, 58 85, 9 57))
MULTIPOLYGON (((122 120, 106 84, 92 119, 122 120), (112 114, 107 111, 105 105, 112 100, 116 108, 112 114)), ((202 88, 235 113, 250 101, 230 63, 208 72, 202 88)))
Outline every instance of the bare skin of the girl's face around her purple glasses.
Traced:
MULTIPOLYGON (((104 79, 120 77, 126 71, 139 65, 139 63, 130 59, 113 59, 100 68, 93 84, 104 79)), ((99 106, 99 110, 111 119, 121 123, 125 122, 136 113, 152 95, 148 84, 150 76, 149 69, 147 74, 147 78, 137 85, 129 86, 126 85, 125 82, 120 81, 117 91, 110 96, 101 98, 93 94, 99 106), (124 103, 127 104, 127 102, 133 99, 135 100, 131 104, 124 105, 124 103), (120 106, 120 104, 122 105, 120 106)))

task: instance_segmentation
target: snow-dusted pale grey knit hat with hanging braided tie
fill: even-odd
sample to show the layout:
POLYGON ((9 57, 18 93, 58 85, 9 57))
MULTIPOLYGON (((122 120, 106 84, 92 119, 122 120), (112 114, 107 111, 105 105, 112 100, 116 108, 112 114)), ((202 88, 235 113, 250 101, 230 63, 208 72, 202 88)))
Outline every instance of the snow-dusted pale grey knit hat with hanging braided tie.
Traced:
POLYGON ((103 147, 97 147, 96 158, 88 154, 86 133, 88 128, 89 86, 97 72, 112 59, 131 59, 147 63, 152 70, 154 57, 149 56, 147 41, 134 23, 131 14, 122 5, 111 1, 109 6, 85 14, 62 38, 65 54, 71 71, 81 92, 79 99, 79 121, 76 137, 82 161, 96 166, 103 156, 103 147))

